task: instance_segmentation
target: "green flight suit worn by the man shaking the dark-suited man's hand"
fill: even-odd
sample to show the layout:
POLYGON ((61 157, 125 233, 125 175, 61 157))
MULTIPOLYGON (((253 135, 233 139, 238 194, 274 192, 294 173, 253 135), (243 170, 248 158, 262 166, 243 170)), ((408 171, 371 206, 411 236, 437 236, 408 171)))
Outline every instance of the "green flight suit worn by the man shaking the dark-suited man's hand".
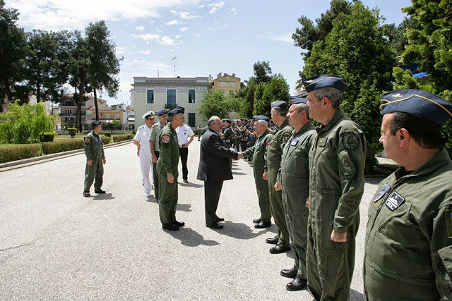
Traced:
POLYGON ((259 208, 262 221, 271 221, 270 199, 268 195, 268 183, 262 175, 267 171, 267 149, 273 135, 266 130, 252 147, 243 152, 243 156, 253 156, 254 183, 256 183, 259 208))

